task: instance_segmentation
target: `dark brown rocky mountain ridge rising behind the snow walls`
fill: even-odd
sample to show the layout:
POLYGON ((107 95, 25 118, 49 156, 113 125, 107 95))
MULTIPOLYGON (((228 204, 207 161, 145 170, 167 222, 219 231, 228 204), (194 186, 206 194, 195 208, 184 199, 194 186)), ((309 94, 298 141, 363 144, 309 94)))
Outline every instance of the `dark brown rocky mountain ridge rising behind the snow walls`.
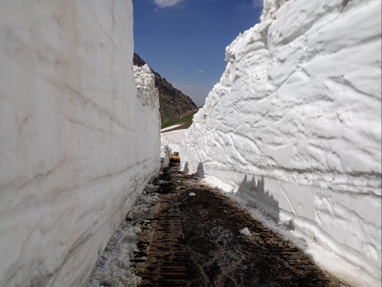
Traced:
MULTIPOLYGON (((142 60, 137 53, 134 53, 133 64, 141 67, 146 64, 146 62, 142 60)), ((189 96, 186 96, 183 92, 174 88, 172 84, 168 83, 166 78, 162 78, 159 73, 152 69, 151 71, 155 75, 155 88, 157 88, 159 92, 159 112, 162 123, 178 118, 186 114, 186 112, 197 108, 189 96)))

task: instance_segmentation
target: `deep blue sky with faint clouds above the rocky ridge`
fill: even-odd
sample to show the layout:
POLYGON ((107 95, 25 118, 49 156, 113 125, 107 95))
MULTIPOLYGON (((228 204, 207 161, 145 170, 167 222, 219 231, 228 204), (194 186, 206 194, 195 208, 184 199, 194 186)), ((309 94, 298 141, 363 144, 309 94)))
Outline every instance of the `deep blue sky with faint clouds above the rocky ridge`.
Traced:
POLYGON ((225 47, 259 23, 262 0, 133 0, 134 46, 200 106, 225 70, 225 47))

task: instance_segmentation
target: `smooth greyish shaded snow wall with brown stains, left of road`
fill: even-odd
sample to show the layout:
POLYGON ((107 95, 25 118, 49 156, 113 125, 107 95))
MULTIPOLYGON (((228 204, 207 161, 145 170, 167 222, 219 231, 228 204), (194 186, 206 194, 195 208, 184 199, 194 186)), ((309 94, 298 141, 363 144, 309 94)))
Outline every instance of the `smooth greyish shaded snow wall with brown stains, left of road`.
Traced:
POLYGON ((84 286, 160 166, 133 5, 2 1, 0 23, 0 286, 84 286))

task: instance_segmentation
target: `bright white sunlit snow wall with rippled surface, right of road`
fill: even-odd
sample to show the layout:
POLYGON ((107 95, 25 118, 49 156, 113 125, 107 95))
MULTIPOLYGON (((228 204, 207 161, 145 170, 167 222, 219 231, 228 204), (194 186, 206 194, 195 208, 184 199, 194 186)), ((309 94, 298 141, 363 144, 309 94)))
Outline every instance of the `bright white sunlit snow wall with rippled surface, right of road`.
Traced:
POLYGON ((381 1, 265 0, 226 60, 182 169, 380 282, 381 1))

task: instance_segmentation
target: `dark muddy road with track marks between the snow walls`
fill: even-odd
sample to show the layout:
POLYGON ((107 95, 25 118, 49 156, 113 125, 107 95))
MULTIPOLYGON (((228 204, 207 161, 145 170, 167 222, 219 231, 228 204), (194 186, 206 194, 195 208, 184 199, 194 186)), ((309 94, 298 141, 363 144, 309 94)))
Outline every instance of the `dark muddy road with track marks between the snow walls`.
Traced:
POLYGON ((348 286, 179 164, 162 171, 153 237, 140 244, 149 246, 141 286, 348 286))

